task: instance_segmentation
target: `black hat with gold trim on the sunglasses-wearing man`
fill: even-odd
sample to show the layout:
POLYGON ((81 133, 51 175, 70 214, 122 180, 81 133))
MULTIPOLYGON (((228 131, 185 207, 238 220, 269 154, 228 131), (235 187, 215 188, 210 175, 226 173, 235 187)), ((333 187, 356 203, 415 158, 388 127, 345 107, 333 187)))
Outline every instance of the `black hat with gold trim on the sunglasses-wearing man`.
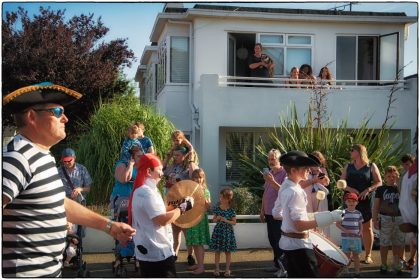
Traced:
POLYGON ((18 113, 36 104, 56 103, 66 106, 82 96, 72 89, 43 82, 9 93, 3 97, 3 108, 10 113, 18 113))

